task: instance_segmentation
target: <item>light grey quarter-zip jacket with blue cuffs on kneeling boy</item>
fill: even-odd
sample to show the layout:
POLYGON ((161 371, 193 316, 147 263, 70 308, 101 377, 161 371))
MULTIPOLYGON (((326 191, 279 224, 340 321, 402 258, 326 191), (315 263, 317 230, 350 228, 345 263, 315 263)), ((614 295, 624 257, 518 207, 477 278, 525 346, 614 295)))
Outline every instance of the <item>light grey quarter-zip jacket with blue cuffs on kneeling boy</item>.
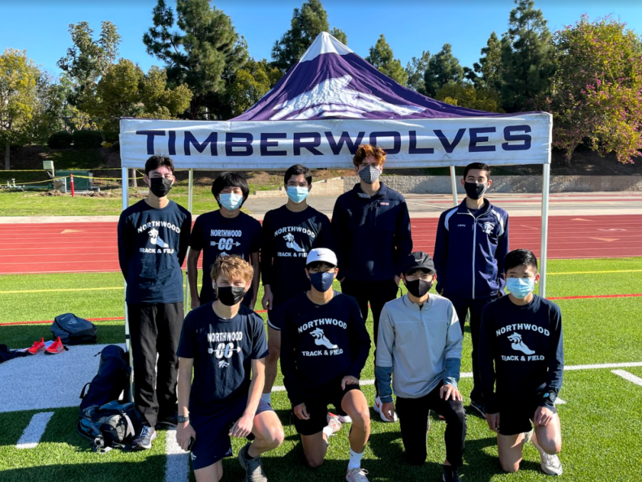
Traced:
POLYGON ((375 376, 382 402, 394 394, 418 399, 439 383, 457 386, 462 362, 462 329, 452 303, 429 294, 423 307, 407 294, 387 302, 379 318, 375 376))

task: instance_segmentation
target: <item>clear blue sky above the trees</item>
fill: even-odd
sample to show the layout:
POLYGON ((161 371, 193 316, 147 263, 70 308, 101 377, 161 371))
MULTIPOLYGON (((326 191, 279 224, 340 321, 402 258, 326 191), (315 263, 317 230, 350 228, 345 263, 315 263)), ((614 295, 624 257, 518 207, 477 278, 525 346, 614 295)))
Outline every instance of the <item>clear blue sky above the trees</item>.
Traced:
MULTIPOLYGON (((167 0, 175 6, 175 0, 167 0)), ((272 46, 290 28, 292 10, 303 0, 222 0, 210 2, 228 14, 238 34, 248 41, 250 56, 270 59, 272 46)), ((491 31, 501 36, 508 28, 512 0, 350 0, 323 1, 330 27, 347 34, 348 46, 366 57, 370 47, 384 34, 395 58, 402 65, 422 51, 437 53, 444 43, 452 45, 462 66, 479 60, 491 31)), ((68 24, 88 21, 96 36, 101 21, 118 26, 122 36, 119 55, 147 71, 163 63, 146 53, 143 34, 152 25, 156 0, 0 0, 0 47, 26 50, 29 58, 54 76, 61 71, 59 58, 71 46, 68 24)), ((551 31, 574 24, 582 14, 597 19, 612 14, 642 34, 642 1, 639 0, 540 0, 535 2, 551 31)))

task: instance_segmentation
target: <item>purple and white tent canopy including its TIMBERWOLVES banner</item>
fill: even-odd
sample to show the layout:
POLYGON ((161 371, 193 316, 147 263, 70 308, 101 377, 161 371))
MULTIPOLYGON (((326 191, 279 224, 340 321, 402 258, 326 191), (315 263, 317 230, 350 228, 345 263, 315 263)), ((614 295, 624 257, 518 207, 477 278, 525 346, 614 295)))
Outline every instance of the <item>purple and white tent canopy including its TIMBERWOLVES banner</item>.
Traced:
POLYGON ((123 166, 168 153, 177 168, 350 168, 357 145, 388 168, 550 163, 549 113, 451 106, 400 86, 330 34, 248 111, 229 121, 121 120, 123 166))

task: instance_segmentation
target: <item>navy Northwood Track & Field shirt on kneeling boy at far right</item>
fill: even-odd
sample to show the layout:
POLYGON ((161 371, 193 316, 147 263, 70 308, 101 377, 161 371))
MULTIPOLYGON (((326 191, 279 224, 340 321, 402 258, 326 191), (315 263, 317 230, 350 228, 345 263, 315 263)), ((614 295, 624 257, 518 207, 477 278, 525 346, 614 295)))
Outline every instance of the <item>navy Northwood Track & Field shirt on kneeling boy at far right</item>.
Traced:
POLYGON ((508 295, 487 304, 478 353, 486 413, 496 414, 502 401, 519 404, 534 396, 541 406, 554 406, 564 371, 559 307, 536 294, 524 306, 508 295))

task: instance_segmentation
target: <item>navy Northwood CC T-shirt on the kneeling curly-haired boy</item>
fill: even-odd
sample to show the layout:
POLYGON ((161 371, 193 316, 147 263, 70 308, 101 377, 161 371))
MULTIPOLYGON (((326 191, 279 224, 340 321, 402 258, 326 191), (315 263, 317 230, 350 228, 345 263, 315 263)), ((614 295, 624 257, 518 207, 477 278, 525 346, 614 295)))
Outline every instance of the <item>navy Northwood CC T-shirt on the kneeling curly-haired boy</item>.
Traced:
POLYGON ((180 332, 178 354, 194 359, 190 412, 212 414, 248 394, 252 360, 267 357, 263 319, 240 305, 232 319, 221 319, 212 302, 193 309, 180 332))

